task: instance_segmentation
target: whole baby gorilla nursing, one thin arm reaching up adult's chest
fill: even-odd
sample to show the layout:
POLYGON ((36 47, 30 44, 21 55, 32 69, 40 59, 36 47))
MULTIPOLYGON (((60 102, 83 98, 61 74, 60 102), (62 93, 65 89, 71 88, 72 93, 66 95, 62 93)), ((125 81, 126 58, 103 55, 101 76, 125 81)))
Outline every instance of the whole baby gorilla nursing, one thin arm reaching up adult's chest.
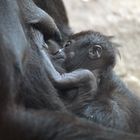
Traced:
POLYGON ((55 52, 67 73, 49 65, 42 50, 44 64, 57 89, 67 91, 64 94, 76 91, 67 106, 73 113, 106 127, 139 133, 140 101, 113 71, 118 51, 109 38, 93 31, 70 36, 55 52))

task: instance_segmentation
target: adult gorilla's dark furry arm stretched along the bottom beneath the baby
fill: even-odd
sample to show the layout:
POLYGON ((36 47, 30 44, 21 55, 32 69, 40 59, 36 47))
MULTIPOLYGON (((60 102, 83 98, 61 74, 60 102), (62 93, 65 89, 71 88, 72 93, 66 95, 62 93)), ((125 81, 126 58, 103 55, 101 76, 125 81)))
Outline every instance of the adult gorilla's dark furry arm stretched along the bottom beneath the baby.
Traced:
POLYGON ((139 140, 71 114, 9 108, 0 119, 3 140, 139 140))

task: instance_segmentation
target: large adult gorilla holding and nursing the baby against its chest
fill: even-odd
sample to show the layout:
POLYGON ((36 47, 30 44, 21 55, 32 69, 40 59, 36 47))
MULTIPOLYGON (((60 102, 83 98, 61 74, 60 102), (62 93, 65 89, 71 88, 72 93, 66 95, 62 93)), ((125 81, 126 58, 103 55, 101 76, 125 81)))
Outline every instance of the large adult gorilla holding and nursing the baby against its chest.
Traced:
POLYGON ((0 18, 1 140, 140 139, 67 113, 37 50, 44 40, 34 28, 45 39, 59 40, 59 30, 47 13, 31 0, 1 0, 0 18), (26 107, 19 100, 25 95, 30 99, 26 107))

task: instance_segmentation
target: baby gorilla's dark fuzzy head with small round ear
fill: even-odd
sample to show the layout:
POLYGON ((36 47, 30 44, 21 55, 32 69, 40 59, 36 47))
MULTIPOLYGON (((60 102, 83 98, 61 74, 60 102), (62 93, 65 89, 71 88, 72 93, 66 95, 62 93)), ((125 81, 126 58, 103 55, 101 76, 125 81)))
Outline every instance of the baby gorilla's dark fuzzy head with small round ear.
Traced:
POLYGON ((116 62, 116 48, 110 37, 99 32, 83 31, 73 34, 64 43, 65 68, 89 70, 113 68, 116 62))

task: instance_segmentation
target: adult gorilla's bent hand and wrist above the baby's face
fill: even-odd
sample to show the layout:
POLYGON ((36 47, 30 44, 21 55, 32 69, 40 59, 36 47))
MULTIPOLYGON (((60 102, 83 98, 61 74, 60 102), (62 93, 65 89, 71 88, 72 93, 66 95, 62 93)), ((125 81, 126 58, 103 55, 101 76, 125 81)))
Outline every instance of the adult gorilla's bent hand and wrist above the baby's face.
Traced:
POLYGON ((32 0, 23 0, 22 2, 24 6, 21 8, 23 9, 26 23, 41 31, 45 40, 52 38, 60 41, 61 33, 53 18, 37 7, 32 0))

